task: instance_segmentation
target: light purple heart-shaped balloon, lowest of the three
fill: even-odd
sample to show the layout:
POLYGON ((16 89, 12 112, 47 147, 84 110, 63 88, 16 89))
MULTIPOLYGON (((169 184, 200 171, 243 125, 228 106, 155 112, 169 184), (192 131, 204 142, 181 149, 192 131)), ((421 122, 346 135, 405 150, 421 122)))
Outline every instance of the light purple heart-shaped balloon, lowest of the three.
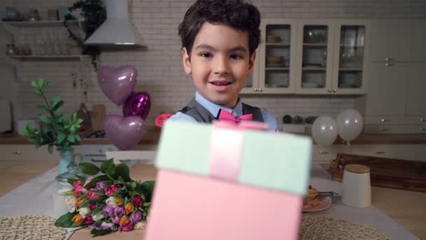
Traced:
POLYGON ((145 133, 145 122, 139 116, 107 115, 104 119, 105 134, 121 150, 137 145, 145 133))

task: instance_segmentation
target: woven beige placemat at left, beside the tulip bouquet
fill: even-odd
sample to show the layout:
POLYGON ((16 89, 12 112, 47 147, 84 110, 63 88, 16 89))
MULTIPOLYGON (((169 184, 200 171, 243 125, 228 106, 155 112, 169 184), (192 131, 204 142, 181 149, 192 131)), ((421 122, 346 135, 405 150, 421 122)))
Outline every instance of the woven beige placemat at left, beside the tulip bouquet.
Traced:
POLYGON ((55 218, 26 215, 0 218, 0 239, 64 239, 67 229, 55 227, 55 218))

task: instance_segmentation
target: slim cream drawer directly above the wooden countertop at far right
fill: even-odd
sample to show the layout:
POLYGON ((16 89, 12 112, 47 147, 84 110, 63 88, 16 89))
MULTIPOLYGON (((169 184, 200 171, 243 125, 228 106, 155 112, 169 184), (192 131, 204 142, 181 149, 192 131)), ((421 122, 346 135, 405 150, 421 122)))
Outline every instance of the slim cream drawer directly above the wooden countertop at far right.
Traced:
POLYGON ((425 125, 366 125, 366 134, 420 134, 426 133, 425 125))

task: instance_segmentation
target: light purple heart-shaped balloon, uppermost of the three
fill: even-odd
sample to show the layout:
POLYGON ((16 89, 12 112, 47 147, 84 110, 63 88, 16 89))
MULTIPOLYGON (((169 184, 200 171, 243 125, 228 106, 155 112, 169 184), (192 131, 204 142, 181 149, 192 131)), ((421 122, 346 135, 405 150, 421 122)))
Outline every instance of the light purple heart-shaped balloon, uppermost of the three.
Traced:
POLYGON ((136 86, 137 70, 134 66, 99 67, 97 79, 102 91, 117 106, 121 105, 136 86))

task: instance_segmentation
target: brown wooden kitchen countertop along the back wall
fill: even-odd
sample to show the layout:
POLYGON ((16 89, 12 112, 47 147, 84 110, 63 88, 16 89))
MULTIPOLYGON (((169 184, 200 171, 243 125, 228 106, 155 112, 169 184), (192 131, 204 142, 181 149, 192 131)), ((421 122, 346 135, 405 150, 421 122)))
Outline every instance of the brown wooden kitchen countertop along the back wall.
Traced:
MULTIPOLYGON (((305 135, 305 134, 303 134, 305 135)), ((146 132, 139 145, 157 145, 160 138, 159 131, 146 132)), ((352 145, 362 144, 426 144, 426 134, 362 134, 358 138, 350 142, 352 145)), ((21 135, 13 135, 9 137, 0 136, 0 145, 6 144, 33 144, 28 142, 27 137, 21 135)), ((109 139, 87 139, 83 138, 81 145, 88 144, 112 144, 109 139)), ((343 141, 338 138, 336 145, 343 144, 343 141)))

